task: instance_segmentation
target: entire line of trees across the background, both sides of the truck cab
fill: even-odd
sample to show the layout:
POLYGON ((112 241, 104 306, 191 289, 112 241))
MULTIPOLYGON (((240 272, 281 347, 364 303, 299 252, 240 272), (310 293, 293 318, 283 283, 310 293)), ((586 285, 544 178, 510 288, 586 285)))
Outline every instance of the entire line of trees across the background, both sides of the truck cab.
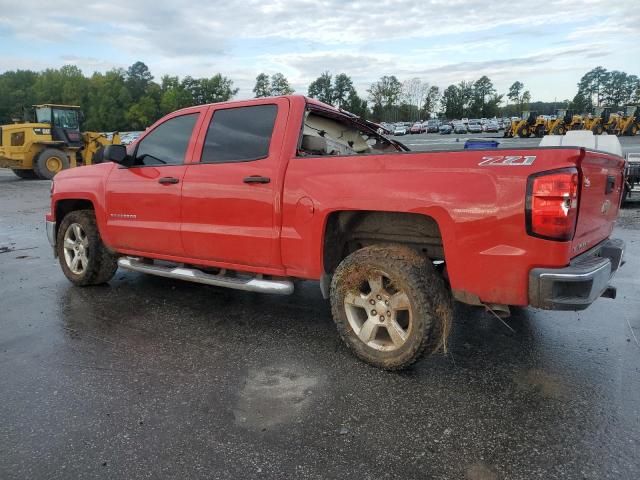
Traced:
MULTIPOLYGON (((380 121, 414 121, 434 116, 475 118, 520 115, 524 110, 552 114, 556 108, 578 113, 599 106, 621 107, 640 102, 640 80, 636 75, 603 67, 587 72, 578 82, 572 100, 532 102, 529 90, 514 82, 498 93, 486 75, 474 81, 451 84, 444 90, 410 78, 382 76, 358 95, 346 73, 323 72, 312 81, 307 94, 360 117, 380 121)), ((208 78, 164 75, 155 81, 143 62, 127 69, 95 72, 86 77, 73 65, 41 72, 7 71, 0 74, 0 124, 23 118, 23 109, 38 103, 80 105, 85 113, 83 128, 96 131, 142 130, 174 110, 205 103, 223 102, 238 93, 233 81, 220 73, 208 78)), ((255 97, 294 93, 282 73, 260 73, 253 88, 255 97)))

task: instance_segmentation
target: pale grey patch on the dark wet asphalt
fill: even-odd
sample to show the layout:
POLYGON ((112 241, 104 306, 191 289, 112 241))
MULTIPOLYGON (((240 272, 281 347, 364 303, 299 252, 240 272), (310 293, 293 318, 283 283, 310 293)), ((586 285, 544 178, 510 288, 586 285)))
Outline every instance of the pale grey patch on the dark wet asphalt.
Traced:
POLYGON ((252 369, 233 410, 236 424, 268 430, 295 422, 312 401, 316 377, 291 368, 252 369))

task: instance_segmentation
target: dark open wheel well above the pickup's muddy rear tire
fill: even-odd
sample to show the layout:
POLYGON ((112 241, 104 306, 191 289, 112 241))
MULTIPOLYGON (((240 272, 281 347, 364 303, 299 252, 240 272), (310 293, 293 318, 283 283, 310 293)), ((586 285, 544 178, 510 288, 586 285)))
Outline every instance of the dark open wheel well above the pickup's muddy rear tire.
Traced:
POLYGON ((323 245, 323 265, 333 273, 354 251, 374 244, 407 245, 431 260, 444 261, 442 235, 437 222, 418 213, 342 211, 327 219, 323 245))

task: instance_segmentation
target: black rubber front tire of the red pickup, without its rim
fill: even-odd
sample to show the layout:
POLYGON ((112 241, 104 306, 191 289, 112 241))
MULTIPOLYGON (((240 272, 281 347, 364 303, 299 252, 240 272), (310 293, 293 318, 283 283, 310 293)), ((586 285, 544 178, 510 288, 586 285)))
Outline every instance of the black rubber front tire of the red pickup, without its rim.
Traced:
POLYGON ((56 238, 56 253, 65 277, 71 283, 80 287, 106 283, 111 280, 118 269, 117 256, 109 252, 102 243, 93 210, 75 210, 62 219, 56 238), (88 265, 86 265, 81 274, 71 271, 64 252, 65 233, 73 224, 78 224, 82 227, 88 240, 88 265))

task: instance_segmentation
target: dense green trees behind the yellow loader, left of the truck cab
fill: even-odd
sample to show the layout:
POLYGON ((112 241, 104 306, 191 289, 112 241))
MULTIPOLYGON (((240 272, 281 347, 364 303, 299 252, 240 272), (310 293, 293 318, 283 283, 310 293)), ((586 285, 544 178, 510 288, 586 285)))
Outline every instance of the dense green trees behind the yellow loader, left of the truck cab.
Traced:
POLYGON ((164 75, 155 82, 143 62, 90 77, 74 65, 7 71, 0 74, 0 125, 22 120, 31 105, 59 103, 82 107, 85 130, 143 130, 179 108, 223 102, 236 93, 233 81, 219 73, 182 79, 164 75))

